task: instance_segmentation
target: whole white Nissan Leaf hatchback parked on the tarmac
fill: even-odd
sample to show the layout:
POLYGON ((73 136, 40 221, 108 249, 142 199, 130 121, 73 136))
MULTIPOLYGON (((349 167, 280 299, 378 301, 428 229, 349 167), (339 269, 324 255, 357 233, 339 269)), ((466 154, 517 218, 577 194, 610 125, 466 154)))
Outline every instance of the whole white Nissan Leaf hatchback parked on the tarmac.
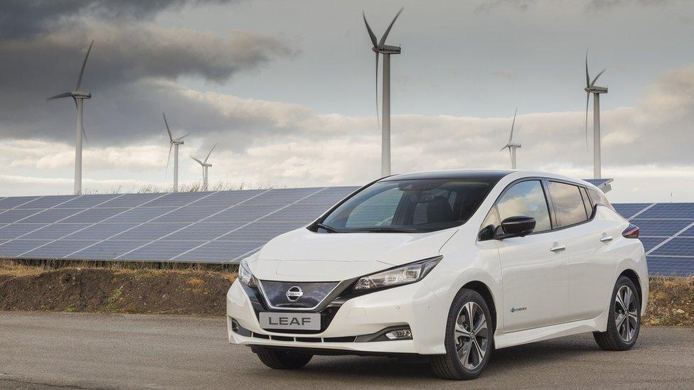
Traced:
POLYGON ((241 261, 229 342, 274 369, 314 354, 430 355, 446 379, 479 376, 495 349, 580 332, 628 350, 648 297, 638 237, 583 180, 389 176, 241 261))

